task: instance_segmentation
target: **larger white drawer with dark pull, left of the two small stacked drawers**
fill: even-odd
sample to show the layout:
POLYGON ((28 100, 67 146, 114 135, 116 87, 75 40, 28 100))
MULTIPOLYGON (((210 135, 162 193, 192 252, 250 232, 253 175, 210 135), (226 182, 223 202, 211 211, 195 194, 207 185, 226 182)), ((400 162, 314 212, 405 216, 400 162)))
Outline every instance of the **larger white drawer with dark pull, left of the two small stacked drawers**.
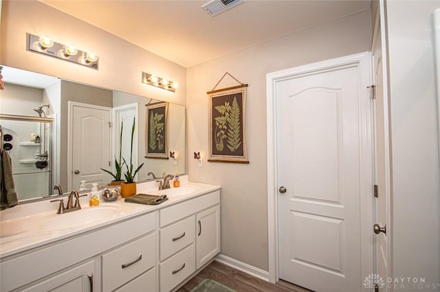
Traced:
POLYGON ((155 251, 156 234, 153 233, 103 254, 102 291, 113 291, 113 289, 154 267, 155 251))

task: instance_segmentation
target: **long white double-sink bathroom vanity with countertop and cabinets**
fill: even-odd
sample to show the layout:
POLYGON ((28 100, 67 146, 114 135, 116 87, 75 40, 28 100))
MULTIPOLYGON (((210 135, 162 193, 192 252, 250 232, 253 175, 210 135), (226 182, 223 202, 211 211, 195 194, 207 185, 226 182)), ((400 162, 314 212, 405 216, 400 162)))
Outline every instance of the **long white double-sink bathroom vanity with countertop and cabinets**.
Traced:
POLYGON ((0 212, 0 290, 180 287, 220 252, 220 187, 186 177, 180 188, 158 191, 156 184, 137 185, 138 193, 168 196, 156 206, 119 198, 89 207, 81 198, 85 207, 66 214, 56 215, 48 201, 0 212))

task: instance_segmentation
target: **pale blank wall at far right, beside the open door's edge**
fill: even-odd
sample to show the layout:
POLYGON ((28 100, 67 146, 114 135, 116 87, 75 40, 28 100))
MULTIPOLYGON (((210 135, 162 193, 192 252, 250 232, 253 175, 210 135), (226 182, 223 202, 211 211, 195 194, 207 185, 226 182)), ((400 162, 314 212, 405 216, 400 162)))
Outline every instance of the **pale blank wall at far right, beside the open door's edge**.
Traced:
POLYGON ((388 1, 393 272, 440 291, 440 190, 432 12, 440 1, 388 1))

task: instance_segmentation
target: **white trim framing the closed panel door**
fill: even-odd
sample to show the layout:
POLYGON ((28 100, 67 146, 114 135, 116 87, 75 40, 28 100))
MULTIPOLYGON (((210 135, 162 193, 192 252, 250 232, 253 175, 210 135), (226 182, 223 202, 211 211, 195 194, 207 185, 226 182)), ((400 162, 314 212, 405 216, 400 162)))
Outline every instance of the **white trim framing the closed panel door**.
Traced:
MULTIPOLYGON (((316 62, 266 75, 267 109, 267 236, 269 255, 269 281, 279 280, 278 273, 278 192, 276 157, 276 84, 284 80, 344 66, 358 66, 360 88, 360 212, 361 212, 361 273, 362 278, 373 273, 373 104, 370 99, 371 53, 364 52, 342 58, 316 62)), ((359 283, 362 287, 362 283, 359 283)))

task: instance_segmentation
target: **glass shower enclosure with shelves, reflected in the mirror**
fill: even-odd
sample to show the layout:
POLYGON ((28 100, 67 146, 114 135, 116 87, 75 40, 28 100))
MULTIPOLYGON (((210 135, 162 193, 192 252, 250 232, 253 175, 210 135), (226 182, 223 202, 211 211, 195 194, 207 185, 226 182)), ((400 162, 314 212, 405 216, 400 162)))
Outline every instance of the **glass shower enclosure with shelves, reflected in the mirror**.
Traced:
POLYGON ((41 117, 0 114, 1 143, 12 160, 12 176, 20 201, 45 197, 52 191, 54 119, 43 113, 39 113, 41 117))

